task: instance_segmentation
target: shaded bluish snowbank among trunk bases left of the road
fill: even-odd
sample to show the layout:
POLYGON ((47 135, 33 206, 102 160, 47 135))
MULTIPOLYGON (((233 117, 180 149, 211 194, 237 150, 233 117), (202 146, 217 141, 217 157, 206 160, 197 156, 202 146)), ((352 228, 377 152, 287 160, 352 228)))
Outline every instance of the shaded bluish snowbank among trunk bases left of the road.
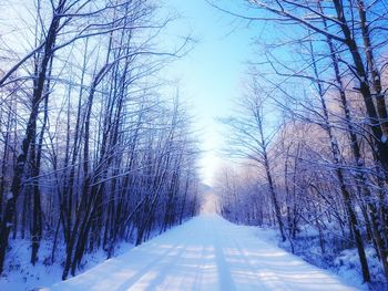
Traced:
MULTIPOLYGON (((11 240, 11 249, 7 254, 4 272, 0 277, 1 291, 33 290, 39 287, 52 285, 61 281, 64 261, 64 246, 58 246, 54 261, 51 259, 52 242, 43 240, 39 249, 39 261, 33 267, 30 262, 31 242, 29 240, 11 240)), ((115 256, 133 248, 130 243, 118 247, 115 256)), ((102 250, 89 253, 84 257, 81 269, 82 273, 106 260, 106 253, 102 250)))

